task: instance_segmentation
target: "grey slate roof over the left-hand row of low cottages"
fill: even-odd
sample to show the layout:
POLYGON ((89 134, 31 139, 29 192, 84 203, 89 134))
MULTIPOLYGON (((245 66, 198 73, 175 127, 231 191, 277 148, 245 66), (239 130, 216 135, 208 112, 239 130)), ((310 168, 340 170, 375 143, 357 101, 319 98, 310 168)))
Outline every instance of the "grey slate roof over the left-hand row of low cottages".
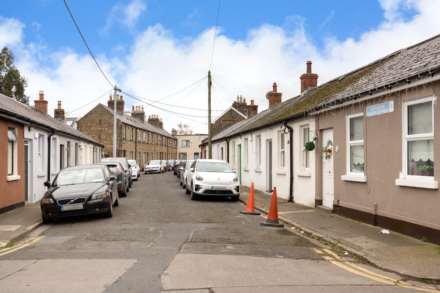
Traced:
POLYGON ((68 126, 67 124, 58 121, 51 116, 35 110, 33 107, 20 103, 15 99, 0 94, 0 112, 19 118, 20 120, 39 124, 47 128, 53 129, 56 132, 64 133, 80 140, 93 143, 95 145, 103 146, 90 136, 81 131, 68 126))

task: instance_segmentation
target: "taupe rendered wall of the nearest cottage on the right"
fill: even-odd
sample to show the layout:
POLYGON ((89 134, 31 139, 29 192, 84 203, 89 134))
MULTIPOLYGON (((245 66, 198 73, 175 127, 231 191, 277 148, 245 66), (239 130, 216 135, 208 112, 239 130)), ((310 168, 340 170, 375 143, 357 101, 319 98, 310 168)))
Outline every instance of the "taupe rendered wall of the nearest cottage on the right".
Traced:
MULTIPOLYGON (((440 82, 436 82, 318 115, 319 130, 333 129, 334 133, 335 212, 440 242, 439 96, 440 82), (367 115, 367 107, 381 103, 390 105, 389 102, 392 103, 392 107, 388 107, 388 111, 367 115), (432 116, 430 117, 428 111, 425 118, 420 114, 414 116, 416 119, 414 121, 423 123, 421 127, 424 129, 433 128, 432 135, 422 138, 433 141, 433 177, 405 175, 407 168, 405 161, 408 158, 405 154, 405 137, 408 129, 407 106, 418 102, 432 103, 432 116), (354 176, 347 171, 349 165, 347 164, 349 160, 347 119, 352 115, 363 117, 365 161, 364 174, 354 174, 354 176), (429 122, 431 118, 432 124, 429 122)), ((429 157, 427 149, 418 151, 416 156, 429 157)), ((318 160, 317 166, 320 167, 321 158, 318 160)), ((317 175, 319 176, 318 197, 322 198, 320 168, 317 175)))

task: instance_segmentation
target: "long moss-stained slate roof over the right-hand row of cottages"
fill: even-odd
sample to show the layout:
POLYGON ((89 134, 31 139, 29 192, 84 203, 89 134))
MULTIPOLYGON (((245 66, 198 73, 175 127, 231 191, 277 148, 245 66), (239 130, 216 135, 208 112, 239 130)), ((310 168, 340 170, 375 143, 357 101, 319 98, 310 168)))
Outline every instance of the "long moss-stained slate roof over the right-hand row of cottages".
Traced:
POLYGON ((219 132, 213 141, 305 117, 312 110, 323 109, 373 91, 380 92, 390 85, 406 83, 412 78, 424 78, 435 72, 440 72, 440 35, 396 51, 302 95, 285 100, 271 110, 265 110, 219 132))

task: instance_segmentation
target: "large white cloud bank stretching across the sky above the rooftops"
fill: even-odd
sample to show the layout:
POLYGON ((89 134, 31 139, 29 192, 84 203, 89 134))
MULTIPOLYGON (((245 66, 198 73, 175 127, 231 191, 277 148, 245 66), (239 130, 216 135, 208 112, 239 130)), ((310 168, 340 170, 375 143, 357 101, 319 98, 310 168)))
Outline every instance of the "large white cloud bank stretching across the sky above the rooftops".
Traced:
MULTIPOLYGON (((286 20, 283 27, 263 24, 250 30, 243 39, 233 39, 222 31, 207 28, 191 38, 177 38, 161 24, 150 26, 137 34, 119 59, 99 56, 106 72, 119 81, 119 86, 148 99, 159 99, 206 76, 210 63, 213 34, 217 33, 213 63, 213 108, 226 109, 238 94, 255 99, 259 109, 267 108, 265 93, 272 82, 279 84, 283 99, 299 93, 299 76, 305 70, 305 61, 313 60, 319 83, 363 66, 395 50, 412 45, 438 34, 440 18, 438 0, 381 1, 384 20, 356 38, 325 40, 318 48, 303 26, 301 18, 286 20), (385 3, 387 2, 387 3, 385 3), (397 17, 414 11, 410 19, 397 17), (393 16, 394 15, 394 16, 393 16)), ((9 20, 11 21, 11 20, 9 20)), ((0 28, 4 25, 0 22, 0 28)), ((23 25, 18 26, 12 43, 15 44, 18 67, 29 82, 27 94, 35 97, 44 89, 52 107, 63 99, 67 112, 102 94, 108 87, 87 55, 72 50, 44 54, 22 39, 23 25)), ((2 36, 2 34, 0 34, 2 36)), ((1 40, 1 39, 0 39, 1 40)), ((1 41, 0 41, 1 43, 1 41)), ((11 43, 11 41, 9 41, 11 43)), ((105 98, 101 101, 105 102, 105 98)), ((185 107, 207 107, 206 79, 163 101, 185 107)), ((126 98, 126 106, 139 104, 126 98)), ((159 114, 170 130, 179 122, 191 125, 197 132, 206 132, 206 119, 183 119, 150 106, 148 114, 159 114), (194 122, 196 120, 198 122, 194 122)), ((206 112, 172 108, 168 110, 204 116, 206 112)), ((74 113, 84 114, 92 107, 74 113)), ((53 108, 52 108, 53 109, 53 108)), ((214 112, 214 116, 220 112, 214 112)))

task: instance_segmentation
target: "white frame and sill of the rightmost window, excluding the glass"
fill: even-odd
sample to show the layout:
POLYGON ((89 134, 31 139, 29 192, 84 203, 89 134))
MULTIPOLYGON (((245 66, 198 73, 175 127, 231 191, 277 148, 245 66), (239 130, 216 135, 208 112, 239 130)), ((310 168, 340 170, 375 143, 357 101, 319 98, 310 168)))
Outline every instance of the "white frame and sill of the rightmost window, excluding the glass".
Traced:
MULTIPOLYGON (((422 99, 417 99, 414 101, 408 101, 402 105, 402 170, 399 174, 399 178, 396 179, 396 185, 398 186, 408 186, 408 187, 418 187, 427 189, 438 189, 438 182, 435 180, 434 176, 420 176, 420 175, 408 175, 408 142, 417 140, 428 140, 432 139, 434 143, 434 133, 435 133, 435 105, 437 99, 436 97, 427 97, 422 99), (408 134, 408 106, 413 106, 417 104, 423 104, 431 102, 431 121, 432 129, 430 133, 422 134, 408 134)), ((433 161, 435 166, 435 148, 433 150, 433 161)))

